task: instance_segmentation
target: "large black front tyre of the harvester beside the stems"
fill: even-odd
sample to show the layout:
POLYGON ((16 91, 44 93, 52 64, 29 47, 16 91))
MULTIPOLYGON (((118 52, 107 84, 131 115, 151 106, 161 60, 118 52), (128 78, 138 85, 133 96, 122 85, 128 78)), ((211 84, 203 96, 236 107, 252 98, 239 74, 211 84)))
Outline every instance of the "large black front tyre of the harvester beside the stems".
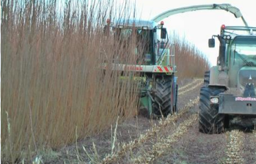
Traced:
POLYGON ((172 77, 156 78, 155 104, 153 114, 167 116, 173 108, 172 77))

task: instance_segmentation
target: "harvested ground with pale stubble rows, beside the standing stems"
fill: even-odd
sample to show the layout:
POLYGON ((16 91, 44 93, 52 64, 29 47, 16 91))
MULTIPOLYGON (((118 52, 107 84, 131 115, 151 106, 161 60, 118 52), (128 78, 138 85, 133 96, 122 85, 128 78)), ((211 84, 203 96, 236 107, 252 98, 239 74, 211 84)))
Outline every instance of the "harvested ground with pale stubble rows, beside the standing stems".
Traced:
POLYGON ((45 163, 256 163, 256 133, 244 133, 244 129, 230 129, 219 135, 198 132, 200 86, 202 80, 186 81, 180 87, 177 115, 159 122, 145 118, 142 112, 118 124, 112 155, 111 130, 107 130, 43 160, 45 163))

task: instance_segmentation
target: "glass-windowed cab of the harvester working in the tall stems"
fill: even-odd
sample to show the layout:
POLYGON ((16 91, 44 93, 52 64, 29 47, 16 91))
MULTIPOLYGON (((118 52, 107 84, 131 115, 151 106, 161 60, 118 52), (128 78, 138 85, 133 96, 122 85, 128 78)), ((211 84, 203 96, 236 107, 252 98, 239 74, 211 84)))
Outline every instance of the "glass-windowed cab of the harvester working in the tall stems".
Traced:
MULTIPOLYGON (((129 41, 131 42, 132 38, 135 39, 135 55, 139 56, 138 59, 142 59, 142 61, 138 61, 140 63, 136 63, 135 70, 144 69, 139 65, 153 66, 160 63, 165 66, 174 65, 167 55, 170 44, 163 21, 157 24, 151 20, 117 20, 114 26, 111 26, 109 22, 110 20, 108 19, 104 29, 106 35, 109 35, 109 32, 112 31, 115 39, 125 42, 125 44, 128 44, 129 41)), ((153 69, 153 67, 147 67, 146 70, 149 70, 149 68, 153 69)))

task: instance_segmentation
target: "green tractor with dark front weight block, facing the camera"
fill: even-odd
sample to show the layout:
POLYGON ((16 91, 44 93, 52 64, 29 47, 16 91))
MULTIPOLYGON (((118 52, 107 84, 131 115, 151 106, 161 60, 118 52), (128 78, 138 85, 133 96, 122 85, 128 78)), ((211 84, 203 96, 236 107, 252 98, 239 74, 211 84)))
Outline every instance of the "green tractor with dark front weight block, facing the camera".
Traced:
POLYGON ((223 133, 235 118, 256 118, 256 28, 221 26, 217 64, 205 72, 200 90, 199 130, 223 133))

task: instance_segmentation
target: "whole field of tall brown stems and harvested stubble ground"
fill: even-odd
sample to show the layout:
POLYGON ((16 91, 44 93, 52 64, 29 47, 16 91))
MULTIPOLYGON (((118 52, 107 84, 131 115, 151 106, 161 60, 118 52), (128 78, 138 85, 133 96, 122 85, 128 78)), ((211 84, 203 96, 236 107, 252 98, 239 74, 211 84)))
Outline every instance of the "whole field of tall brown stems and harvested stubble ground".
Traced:
POLYGON ((186 39, 170 31, 180 90, 167 118, 139 110, 136 83, 119 81, 134 72, 100 68, 134 53, 106 37, 106 19, 135 12, 129 1, 1 2, 2 163, 255 163, 255 133, 198 133, 209 62, 186 39))

